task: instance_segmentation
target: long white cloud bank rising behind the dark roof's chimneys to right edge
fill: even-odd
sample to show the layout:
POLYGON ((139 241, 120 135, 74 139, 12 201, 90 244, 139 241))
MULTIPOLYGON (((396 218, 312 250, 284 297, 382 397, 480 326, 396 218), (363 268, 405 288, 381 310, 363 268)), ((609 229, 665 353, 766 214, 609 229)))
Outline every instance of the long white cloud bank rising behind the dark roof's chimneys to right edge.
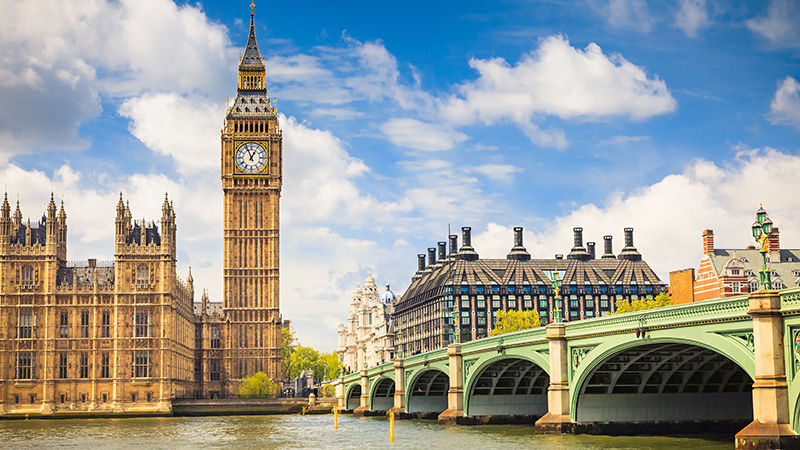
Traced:
MULTIPOLYGON (((714 230, 720 248, 751 244, 750 224, 763 202, 782 231, 781 246, 798 248, 800 198, 795 193, 800 190, 800 179, 793 175, 798 170, 800 156, 774 149, 742 151, 723 166, 696 160, 681 173, 652 185, 614 193, 603 205, 584 204, 556 218, 537 220, 533 227, 526 227, 525 246, 534 258, 567 254, 572 247, 572 228, 582 226, 585 242, 602 246, 602 236, 611 234, 614 251, 619 253, 622 228, 632 226, 635 246, 668 282, 670 271, 697 267, 704 229, 714 230)), ((478 253, 487 258, 505 257, 512 246, 514 225, 520 224, 490 223, 475 233, 478 253)))

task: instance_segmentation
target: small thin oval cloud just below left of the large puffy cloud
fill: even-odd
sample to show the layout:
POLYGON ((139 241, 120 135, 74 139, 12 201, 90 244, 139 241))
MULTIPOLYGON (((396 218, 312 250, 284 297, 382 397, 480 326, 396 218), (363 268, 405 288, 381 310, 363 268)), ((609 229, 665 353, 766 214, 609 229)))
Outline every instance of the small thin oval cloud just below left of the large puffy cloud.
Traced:
POLYGON ((467 135, 449 128, 416 119, 390 119, 380 126, 381 132, 398 147, 423 151, 450 150, 467 140, 467 135))

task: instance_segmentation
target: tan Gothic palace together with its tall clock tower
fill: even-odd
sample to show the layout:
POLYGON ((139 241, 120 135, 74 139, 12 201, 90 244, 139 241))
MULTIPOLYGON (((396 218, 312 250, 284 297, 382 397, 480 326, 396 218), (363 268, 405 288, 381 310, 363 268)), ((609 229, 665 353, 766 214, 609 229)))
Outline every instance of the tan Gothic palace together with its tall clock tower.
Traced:
MULTIPOLYGON (((278 375, 282 133, 254 14, 221 130, 223 301, 195 304, 176 272, 176 217, 132 220, 120 195, 114 260, 67 261, 67 214, 0 211, 0 415, 169 412, 176 398, 235 394, 278 375)), ((109 205, 111 207, 111 205, 109 205)), ((111 224, 109 224, 111 226, 111 224)))

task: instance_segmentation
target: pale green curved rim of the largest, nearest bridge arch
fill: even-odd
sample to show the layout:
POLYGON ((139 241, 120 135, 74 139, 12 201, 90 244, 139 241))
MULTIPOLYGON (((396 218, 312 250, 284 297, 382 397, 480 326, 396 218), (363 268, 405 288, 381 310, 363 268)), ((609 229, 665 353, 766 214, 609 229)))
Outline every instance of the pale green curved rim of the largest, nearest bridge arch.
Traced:
MULTIPOLYGON (((604 337, 605 341, 597 344, 583 355, 577 367, 570 367, 570 415, 578 420, 578 401, 583 385, 594 369, 613 355, 634 347, 650 344, 687 344, 719 353, 741 367, 751 379, 755 379, 755 358, 747 347, 738 344, 729 337, 714 331, 693 329, 649 330, 647 337, 636 338, 634 333, 604 337)), ((576 346, 579 344, 576 343, 576 346)), ((570 365, 572 361, 569 362, 570 365)))

